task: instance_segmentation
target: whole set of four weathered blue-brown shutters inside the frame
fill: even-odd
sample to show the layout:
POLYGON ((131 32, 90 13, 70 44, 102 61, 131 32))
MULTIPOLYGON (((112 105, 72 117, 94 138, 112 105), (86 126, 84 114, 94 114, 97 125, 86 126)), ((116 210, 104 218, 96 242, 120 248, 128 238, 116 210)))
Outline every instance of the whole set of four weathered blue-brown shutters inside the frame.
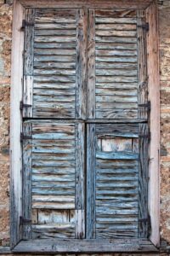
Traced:
POLYGON ((148 236, 144 11, 27 9, 25 238, 148 236))

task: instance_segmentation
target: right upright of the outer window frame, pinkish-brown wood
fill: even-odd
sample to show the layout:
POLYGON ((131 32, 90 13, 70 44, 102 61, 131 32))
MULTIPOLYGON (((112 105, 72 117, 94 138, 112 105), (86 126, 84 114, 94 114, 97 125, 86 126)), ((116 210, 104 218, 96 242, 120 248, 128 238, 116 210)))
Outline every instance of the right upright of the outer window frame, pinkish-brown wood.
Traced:
POLYGON ((148 84, 150 109, 150 183, 149 183, 149 212, 151 220, 150 240, 154 245, 160 243, 160 195, 159 195, 159 159, 160 159, 160 88, 159 88, 159 52, 158 24, 156 0, 146 10, 146 21, 150 24, 147 35, 148 55, 148 84))

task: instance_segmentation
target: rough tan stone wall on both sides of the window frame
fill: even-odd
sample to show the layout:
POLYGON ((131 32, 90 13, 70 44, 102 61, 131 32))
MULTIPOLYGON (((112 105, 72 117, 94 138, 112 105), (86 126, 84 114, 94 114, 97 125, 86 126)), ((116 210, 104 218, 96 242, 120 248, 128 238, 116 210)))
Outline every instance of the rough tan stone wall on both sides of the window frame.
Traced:
MULTIPOLYGON (((12 40, 12 4, 10 2, 10 0, 0 0, 0 247, 6 247, 9 244, 8 134, 12 40)), ((170 243, 170 0, 158 1, 158 9, 161 73, 161 244, 168 246, 170 243)), ((134 255, 131 254, 131 256, 134 255)), ((162 253, 162 255, 169 254, 162 253)))

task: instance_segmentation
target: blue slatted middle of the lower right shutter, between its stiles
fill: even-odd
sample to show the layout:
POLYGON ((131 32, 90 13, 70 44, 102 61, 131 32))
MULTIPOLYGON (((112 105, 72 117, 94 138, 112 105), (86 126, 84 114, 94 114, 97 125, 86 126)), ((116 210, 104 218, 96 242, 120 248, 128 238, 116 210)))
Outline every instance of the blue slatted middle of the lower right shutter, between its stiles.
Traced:
POLYGON ((138 237, 138 127, 96 125, 96 238, 138 237))

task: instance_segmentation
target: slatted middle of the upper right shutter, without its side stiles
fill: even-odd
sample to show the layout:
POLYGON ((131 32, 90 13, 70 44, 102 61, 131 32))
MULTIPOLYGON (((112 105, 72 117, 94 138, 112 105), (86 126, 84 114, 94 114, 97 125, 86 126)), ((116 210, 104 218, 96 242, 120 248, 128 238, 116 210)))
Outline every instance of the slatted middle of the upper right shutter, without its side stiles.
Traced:
POLYGON ((136 11, 95 11, 97 119, 138 118, 136 11))

